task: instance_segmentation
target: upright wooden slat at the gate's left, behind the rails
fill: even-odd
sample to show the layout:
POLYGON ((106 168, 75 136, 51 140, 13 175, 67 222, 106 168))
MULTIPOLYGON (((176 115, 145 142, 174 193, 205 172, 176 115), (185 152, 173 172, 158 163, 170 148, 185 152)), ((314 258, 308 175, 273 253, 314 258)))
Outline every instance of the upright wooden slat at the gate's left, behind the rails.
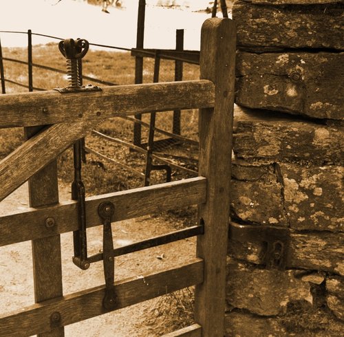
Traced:
MULTIPOLYGON (((30 138, 41 127, 25 128, 30 138)), ((39 207, 58 203, 57 162, 54 160, 29 180, 30 206, 39 207)), ((60 235, 32 241, 34 271, 34 300, 36 303, 63 295, 60 235)), ((44 332, 39 337, 63 337, 63 327, 44 332)))

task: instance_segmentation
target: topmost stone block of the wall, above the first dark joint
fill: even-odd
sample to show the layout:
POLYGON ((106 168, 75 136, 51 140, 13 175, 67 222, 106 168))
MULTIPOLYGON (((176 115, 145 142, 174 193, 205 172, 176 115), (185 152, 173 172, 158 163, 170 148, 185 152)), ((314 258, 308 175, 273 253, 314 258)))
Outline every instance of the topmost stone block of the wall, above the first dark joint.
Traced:
POLYGON ((343 3, 281 7, 235 1, 233 20, 239 47, 344 49, 343 3))

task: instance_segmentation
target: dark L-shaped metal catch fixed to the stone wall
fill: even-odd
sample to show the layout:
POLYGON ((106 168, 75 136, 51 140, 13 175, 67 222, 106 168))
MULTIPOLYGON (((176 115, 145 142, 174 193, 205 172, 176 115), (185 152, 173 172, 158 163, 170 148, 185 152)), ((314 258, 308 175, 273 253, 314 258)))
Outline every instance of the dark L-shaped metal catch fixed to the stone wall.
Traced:
POLYGON ((241 225, 230 221, 229 238, 243 243, 265 243, 262 263, 266 265, 266 268, 286 269, 290 241, 288 228, 241 225))

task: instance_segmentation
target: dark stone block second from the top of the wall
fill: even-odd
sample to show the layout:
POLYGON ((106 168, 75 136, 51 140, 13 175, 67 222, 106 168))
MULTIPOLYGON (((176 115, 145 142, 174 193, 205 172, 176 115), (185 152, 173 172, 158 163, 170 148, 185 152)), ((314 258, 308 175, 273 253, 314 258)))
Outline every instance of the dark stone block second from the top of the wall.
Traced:
POLYGON ((343 120, 344 53, 238 52, 237 105, 343 120))

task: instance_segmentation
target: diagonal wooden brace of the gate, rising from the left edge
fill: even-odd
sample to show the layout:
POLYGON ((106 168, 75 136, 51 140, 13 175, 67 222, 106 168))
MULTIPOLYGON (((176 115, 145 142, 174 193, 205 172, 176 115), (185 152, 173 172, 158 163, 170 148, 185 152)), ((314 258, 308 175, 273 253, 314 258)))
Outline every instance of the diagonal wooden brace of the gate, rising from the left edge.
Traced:
POLYGON ((52 162, 70 144, 85 136, 95 124, 82 120, 53 125, 34 135, 1 160, 0 202, 43 166, 52 162))

